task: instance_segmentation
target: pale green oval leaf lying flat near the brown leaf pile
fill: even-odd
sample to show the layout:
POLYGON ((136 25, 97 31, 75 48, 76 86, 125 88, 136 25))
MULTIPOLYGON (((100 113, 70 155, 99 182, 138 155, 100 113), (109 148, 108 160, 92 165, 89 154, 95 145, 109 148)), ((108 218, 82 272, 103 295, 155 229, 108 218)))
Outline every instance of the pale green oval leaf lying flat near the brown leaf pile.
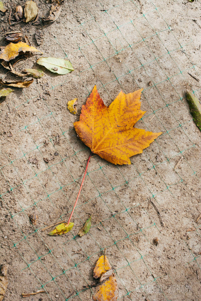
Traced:
POLYGON ((63 58, 40 57, 36 63, 46 67, 51 72, 58 74, 67 74, 74 70, 71 62, 66 61, 63 58))

